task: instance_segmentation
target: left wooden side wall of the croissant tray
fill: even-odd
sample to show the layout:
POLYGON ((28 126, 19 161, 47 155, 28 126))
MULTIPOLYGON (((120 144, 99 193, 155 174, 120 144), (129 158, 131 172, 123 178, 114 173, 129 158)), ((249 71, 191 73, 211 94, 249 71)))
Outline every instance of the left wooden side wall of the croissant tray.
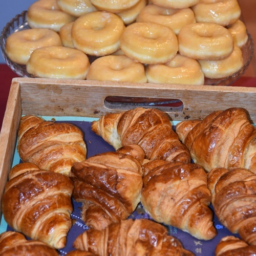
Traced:
MULTIPOLYGON (((8 173, 12 167, 18 124, 21 116, 20 87, 18 82, 13 82, 10 88, 0 134, 0 205, 2 205, 2 196, 8 173)), ((2 210, 0 207, 0 217, 1 216, 2 210)))

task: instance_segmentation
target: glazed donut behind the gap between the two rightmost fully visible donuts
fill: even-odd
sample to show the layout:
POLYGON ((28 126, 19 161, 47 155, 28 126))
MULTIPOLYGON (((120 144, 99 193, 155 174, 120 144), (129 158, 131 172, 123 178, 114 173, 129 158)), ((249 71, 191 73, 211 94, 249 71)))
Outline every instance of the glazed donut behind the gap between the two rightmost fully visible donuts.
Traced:
POLYGON ((196 22, 194 12, 190 8, 167 9, 153 4, 145 6, 137 17, 137 22, 152 20, 172 29, 176 35, 183 26, 196 22))

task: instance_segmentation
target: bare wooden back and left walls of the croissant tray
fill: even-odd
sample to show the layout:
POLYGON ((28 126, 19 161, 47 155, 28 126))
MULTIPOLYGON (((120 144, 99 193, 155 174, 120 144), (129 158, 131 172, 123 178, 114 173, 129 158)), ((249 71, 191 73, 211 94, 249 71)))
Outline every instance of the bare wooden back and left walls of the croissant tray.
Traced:
MULTIPOLYGON (((178 99, 183 105, 157 105, 173 120, 202 119, 216 110, 245 108, 256 123, 256 88, 183 86, 179 84, 97 82, 42 78, 14 78, 0 134, 0 203, 12 166, 18 123, 22 115, 96 117, 110 112, 136 108, 124 103, 124 97, 178 99), (106 97, 121 97, 119 103, 105 102, 106 97)), ((0 212, 2 215, 2 212, 0 212)))

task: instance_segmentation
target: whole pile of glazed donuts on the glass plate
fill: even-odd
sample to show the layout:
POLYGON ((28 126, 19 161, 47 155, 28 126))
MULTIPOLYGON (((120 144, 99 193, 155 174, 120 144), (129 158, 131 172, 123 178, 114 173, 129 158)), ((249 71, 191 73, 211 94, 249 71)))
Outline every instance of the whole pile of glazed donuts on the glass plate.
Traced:
POLYGON ((237 0, 38 0, 6 41, 35 77, 204 84, 243 67, 237 0))

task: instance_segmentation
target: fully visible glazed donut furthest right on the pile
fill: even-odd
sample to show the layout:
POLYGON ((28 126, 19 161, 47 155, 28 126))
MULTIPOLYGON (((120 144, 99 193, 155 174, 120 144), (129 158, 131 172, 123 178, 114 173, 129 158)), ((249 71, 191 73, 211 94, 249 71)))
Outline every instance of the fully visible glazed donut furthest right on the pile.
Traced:
POLYGON ((224 59, 234 46, 230 32, 214 23, 193 23, 184 26, 179 34, 179 53, 193 59, 224 59))

